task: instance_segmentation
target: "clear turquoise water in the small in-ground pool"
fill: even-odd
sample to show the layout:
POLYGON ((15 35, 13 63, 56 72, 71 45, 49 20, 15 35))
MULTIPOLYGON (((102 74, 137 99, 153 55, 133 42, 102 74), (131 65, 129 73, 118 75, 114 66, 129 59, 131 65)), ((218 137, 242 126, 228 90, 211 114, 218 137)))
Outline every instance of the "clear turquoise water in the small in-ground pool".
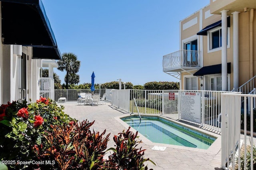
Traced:
POLYGON ((160 117, 142 117, 141 122, 138 117, 125 117, 122 120, 154 143, 208 149, 216 140, 160 117))

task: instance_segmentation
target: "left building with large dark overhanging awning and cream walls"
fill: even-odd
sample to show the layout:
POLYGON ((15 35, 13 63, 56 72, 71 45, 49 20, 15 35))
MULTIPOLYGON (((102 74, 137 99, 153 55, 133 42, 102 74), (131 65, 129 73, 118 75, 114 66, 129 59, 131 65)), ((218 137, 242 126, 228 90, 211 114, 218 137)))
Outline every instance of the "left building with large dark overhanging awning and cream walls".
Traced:
POLYGON ((1 0, 0 104, 40 97, 42 59, 61 59, 41 0, 1 0))

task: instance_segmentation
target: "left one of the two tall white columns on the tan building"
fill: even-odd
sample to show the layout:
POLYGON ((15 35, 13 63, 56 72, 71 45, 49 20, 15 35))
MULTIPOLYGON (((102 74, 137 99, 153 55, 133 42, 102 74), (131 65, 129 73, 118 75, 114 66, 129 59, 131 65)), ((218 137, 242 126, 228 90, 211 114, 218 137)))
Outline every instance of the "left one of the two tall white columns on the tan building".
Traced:
POLYGON ((222 35, 222 50, 221 50, 221 79, 222 91, 227 91, 228 84, 228 70, 227 70, 227 12, 228 10, 221 11, 221 35, 222 35))

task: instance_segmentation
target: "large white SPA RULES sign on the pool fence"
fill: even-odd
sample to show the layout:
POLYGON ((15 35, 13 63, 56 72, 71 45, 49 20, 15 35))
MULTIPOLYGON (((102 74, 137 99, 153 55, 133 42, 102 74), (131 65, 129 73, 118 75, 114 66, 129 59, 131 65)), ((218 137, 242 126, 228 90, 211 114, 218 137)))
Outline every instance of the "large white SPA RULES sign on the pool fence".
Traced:
POLYGON ((181 118, 188 121, 201 123, 201 93, 198 92, 182 92, 181 94, 181 118))

